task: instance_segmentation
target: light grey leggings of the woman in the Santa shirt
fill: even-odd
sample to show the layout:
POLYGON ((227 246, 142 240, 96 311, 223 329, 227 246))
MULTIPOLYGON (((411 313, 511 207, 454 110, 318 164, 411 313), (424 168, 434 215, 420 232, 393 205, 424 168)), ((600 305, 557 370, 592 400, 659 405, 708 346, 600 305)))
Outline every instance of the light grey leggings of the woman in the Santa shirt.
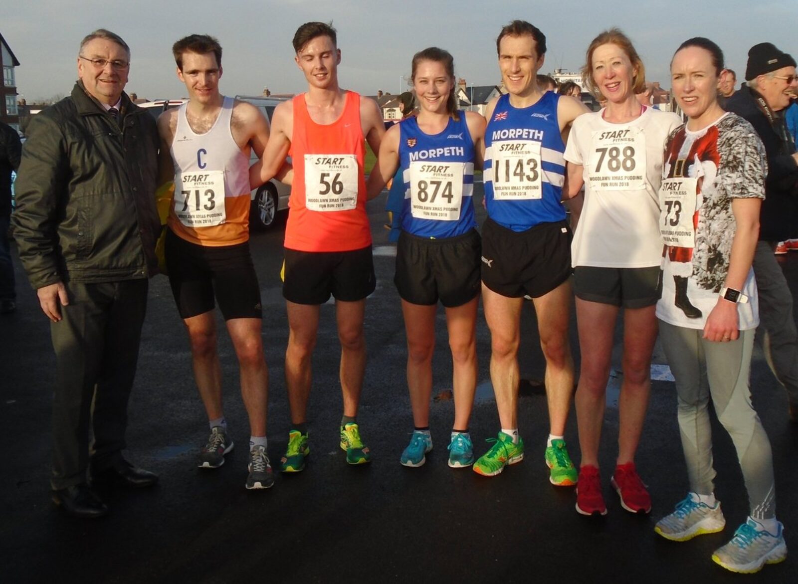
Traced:
POLYGON ((753 330, 741 330, 737 341, 713 342, 703 331, 659 322, 662 349, 676 380, 681 448, 690 491, 715 490, 709 398, 717 419, 729 432, 749 495, 754 519, 776 516, 776 488, 770 440, 751 404, 749 373, 753 330))

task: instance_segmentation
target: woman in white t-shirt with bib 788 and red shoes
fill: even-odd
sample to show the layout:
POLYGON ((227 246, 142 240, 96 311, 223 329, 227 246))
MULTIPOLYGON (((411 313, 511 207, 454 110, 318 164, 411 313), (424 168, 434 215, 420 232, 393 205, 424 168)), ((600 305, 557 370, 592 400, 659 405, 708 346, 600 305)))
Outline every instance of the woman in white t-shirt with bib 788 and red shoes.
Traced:
POLYGON ((574 121, 565 150, 569 195, 578 195, 583 187, 585 191, 571 245, 582 353, 575 397, 582 451, 576 511, 606 513, 599 440, 615 322, 623 310, 618 459, 611 483, 626 511, 648 513, 651 498, 635 470, 634 454, 646 416, 657 338, 662 148, 681 120, 635 98, 646 89, 645 68, 629 38, 618 29, 593 39, 583 80, 606 100, 606 107, 574 121))

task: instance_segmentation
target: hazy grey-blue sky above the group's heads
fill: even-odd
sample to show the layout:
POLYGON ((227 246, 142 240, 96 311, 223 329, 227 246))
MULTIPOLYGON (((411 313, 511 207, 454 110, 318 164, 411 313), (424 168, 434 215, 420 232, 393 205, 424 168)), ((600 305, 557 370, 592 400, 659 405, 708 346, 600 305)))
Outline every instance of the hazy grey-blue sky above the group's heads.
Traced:
POLYGON ((213 34, 224 54, 223 93, 259 94, 304 89, 290 41, 303 22, 333 21, 342 49, 342 86, 361 93, 406 89, 413 53, 430 45, 448 49, 456 74, 468 84, 500 81, 496 35, 523 18, 547 36, 543 72, 583 65, 591 39, 618 26, 634 41, 647 79, 670 87, 668 65, 681 41, 705 36, 724 50, 727 65, 745 73, 748 49, 770 41, 798 57, 795 0, 671 0, 670 2, 434 2, 404 0, 26 0, 2 9, 0 33, 22 65, 18 93, 34 101, 68 94, 77 78, 77 46, 99 27, 113 30, 132 49, 128 92, 150 99, 180 97, 172 42, 192 33, 213 34), (617 6, 624 4, 624 8, 617 6))

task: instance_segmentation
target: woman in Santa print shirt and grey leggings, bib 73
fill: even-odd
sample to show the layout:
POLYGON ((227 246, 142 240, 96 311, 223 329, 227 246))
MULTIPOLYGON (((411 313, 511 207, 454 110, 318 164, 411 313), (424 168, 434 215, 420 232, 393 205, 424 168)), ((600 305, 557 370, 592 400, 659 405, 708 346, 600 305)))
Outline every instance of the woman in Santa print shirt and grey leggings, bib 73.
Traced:
POLYGON ((717 104, 723 53, 713 41, 685 41, 670 69, 688 120, 670 135, 662 165, 666 251, 657 317, 676 381, 689 493, 655 531, 685 541, 725 527, 714 495, 711 398, 737 449, 750 504, 749 518, 712 558, 728 570, 755 572, 787 556, 770 442, 749 391, 759 322, 751 262, 764 199, 764 147, 748 122, 717 104))

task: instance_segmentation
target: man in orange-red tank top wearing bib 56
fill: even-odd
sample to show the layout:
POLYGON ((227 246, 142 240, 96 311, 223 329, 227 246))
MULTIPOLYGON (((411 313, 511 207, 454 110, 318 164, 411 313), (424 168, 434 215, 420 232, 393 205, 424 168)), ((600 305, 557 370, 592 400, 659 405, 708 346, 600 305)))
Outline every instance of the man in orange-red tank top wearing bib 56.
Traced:
POLYGON ((283 472, 305 467, 310 357, 316 344, 319 306, 335 297, 341 341, 343 418, 341 448, 349 464, 369 462, 355 416, 365 370, 365 298, 375 286, 371 231, 365 214, 364 139, 379 152, 385 133, 373 100, 338 85, 341 51, 334 28, 307 22, 294 35, 295 61, 307 93, 275 109, 263 162, 251 168, 253 185, 270 180, 290 154, 294 177, 286 225, 285 283, 290 334, 286 387, 291 408, 283 472))

